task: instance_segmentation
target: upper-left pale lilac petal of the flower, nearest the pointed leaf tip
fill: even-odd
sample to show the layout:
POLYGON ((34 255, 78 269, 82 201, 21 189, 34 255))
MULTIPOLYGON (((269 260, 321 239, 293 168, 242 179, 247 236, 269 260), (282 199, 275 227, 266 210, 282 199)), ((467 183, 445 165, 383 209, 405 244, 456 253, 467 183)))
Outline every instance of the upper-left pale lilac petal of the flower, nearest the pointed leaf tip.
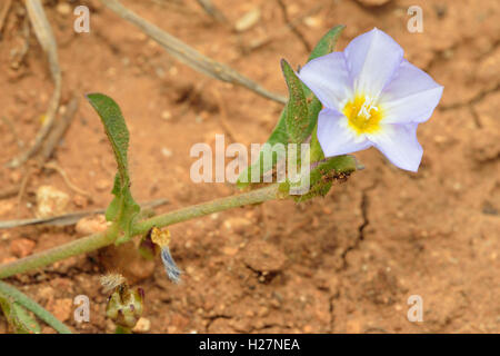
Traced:
POLYGON ((327 108, 341 110, 346 99, 352 96, 352 83, 342 52, 309 61, 297 76, 327 108))

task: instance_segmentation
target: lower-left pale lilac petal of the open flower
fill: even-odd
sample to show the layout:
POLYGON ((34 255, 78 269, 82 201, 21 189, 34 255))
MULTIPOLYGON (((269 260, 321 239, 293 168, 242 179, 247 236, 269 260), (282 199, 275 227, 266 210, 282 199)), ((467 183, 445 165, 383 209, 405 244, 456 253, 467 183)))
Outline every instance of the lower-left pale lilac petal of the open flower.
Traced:
POLYGON ((324 108, 318 116, 318 141, 326 157, 340 156, 367 149, 371 142, 357 136, 340 112, 324 108))

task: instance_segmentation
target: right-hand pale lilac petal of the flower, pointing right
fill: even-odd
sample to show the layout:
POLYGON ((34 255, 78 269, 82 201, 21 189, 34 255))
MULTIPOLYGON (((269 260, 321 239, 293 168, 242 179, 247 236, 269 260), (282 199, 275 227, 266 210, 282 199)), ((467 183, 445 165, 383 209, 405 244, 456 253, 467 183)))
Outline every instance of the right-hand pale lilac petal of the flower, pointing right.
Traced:
POLYGON ((383 122, 427 121, 441 99, 442 89, 423 70, 403 60, 379 98, 383 122))

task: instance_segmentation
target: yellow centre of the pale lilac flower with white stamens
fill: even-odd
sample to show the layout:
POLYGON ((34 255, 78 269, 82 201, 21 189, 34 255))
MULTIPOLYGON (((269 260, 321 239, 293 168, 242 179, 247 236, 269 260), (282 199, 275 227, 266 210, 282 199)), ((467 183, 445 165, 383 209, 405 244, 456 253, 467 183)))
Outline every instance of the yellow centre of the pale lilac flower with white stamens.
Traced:
POLYGON ((349 126, 358 134, 373 134, 380 129, 382 110, 366 96, 356 96, 343 107, 349 126))

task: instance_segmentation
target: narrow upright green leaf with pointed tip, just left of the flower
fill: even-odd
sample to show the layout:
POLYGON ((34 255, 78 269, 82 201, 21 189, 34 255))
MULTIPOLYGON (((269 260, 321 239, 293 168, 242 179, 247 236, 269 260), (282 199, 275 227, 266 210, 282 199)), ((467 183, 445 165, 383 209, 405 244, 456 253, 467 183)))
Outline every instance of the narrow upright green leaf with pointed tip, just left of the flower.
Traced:
POLYGON ((282 59, 281 69, 287 81, 289 99, 287 103, 287 134, 289 142, 300 144, 308 138, 310 122, 308 117, 308 106, 302 90, 302 82, 297 78, 290 65, 282 59))

